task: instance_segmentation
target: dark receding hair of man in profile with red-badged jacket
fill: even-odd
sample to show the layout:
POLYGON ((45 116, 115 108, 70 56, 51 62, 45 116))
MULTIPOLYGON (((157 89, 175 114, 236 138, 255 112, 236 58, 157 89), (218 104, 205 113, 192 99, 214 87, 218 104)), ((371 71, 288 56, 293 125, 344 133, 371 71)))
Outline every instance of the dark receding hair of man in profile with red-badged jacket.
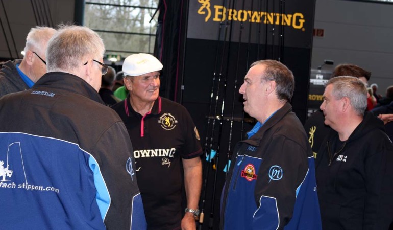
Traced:
POLYGON ((294 90, 294 77, 292 71, 290 71, 288 67, 276 60, 256 61, 252 63, 250 67, 255 65, 265 66, 265 71, 261 75, 261 82, 276 82, 276 95, 279 100, 289 101, 292 98, 294 90))

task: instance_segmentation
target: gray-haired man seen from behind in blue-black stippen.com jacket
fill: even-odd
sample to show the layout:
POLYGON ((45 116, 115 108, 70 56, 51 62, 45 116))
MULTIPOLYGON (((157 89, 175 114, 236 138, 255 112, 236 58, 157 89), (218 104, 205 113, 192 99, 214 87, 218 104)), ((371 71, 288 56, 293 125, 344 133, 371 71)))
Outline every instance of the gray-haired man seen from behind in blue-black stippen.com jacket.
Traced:
POLYGON ((104 52, 94 31, 63 26, 48 73, 0 99, 2 228, 146 228, 127 129, 97 93, 104 52))

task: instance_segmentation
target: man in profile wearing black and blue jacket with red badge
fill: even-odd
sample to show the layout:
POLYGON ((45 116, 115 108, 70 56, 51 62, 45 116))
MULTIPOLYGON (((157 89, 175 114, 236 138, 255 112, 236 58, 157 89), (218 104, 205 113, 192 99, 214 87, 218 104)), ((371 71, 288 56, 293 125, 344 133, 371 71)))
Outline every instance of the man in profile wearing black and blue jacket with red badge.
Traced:
POLYGON ((314 158, 289 104, 292 72, 254 62, 239 89, 258 122, 237 143, 222 197, 220 229, 321 229, 314 158))

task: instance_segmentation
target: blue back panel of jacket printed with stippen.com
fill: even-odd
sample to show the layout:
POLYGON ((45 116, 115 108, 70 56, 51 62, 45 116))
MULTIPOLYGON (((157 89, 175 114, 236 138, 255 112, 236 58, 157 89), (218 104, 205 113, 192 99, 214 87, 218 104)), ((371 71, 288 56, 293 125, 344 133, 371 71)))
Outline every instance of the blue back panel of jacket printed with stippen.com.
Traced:
POLYGON ((23 229, 28 221, 35 229, 105 229, 110 196, 101 172, 89 168, 90 154, 76 144, 23 133, 0 133, 0 148, 0 164, 9 172, 0 181, 2 228, 23 229))

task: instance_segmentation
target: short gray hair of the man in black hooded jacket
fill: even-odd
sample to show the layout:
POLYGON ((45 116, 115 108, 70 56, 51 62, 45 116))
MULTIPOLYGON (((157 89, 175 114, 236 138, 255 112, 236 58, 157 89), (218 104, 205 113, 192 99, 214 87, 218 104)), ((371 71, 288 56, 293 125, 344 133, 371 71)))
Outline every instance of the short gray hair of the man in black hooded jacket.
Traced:
POLYGON ((356 113, 359 116, 364 114, 367 107, 367 88, 362 81, 356 77, 341 76, 331 78, 326 86, 328 85, 333 85, 334 99, 347 97, 356 113))

